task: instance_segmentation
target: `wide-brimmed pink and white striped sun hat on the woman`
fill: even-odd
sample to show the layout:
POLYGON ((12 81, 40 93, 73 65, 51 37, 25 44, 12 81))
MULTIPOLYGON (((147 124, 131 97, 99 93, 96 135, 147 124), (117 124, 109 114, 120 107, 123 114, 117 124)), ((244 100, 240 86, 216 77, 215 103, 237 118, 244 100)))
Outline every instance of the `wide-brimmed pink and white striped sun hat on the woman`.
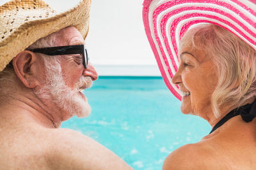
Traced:
POLYGON ((179 66, 179 40, 189 27, 220 25, 256 50, 256 0, 144 0, 143 22, 163 80, 179 100, 172 78, 179 66))

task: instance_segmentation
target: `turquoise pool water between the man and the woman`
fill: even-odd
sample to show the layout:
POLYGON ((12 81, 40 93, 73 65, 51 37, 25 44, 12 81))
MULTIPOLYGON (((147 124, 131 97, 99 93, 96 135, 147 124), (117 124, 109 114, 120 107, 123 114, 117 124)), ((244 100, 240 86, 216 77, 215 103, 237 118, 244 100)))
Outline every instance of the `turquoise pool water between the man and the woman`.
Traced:
POLYGON ((170 152, 211 131, 202 118, 182 115, 160 77, 100 77, 84 94, 92 114, 61 127, 90 136, 134 169, 161 169, 170 152))

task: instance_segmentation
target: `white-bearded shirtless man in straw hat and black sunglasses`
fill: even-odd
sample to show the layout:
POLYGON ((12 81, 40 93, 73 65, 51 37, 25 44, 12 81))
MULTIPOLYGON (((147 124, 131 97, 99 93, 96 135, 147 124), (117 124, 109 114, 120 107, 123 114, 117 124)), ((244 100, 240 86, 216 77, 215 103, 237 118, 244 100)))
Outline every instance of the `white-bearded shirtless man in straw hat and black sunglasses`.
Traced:
POLYGON ((93 139, 58 128, 90 113, 81 93, 98 78, 83 45, 90 1, 65 13, 40 0, 0 8, 1 169, 131 169, 93 139))

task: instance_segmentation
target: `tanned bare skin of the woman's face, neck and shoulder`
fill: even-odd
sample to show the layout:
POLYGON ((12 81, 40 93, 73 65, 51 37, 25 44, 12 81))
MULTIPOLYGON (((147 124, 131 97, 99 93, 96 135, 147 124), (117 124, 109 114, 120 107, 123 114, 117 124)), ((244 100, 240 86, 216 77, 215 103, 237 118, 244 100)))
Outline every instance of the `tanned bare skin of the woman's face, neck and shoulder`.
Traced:
MULTIPOLYGON (((218 81, 212 57, 204 50, 191 48, 182 48, 179 57, 179 69, 172 81, 181 91, 190 92, 189 96, 182 97, 180 110, 184 114, 198 115, 214 126, 230 109, 224 104, 220 118, 212 113, 211 94, 218 81)), ((256 119, 246 123, 240 116, 233 117, 198 143, 181 146, 170 153, 164 160, 163 170, 253 170, 256 169, 255 143, 256 119)))

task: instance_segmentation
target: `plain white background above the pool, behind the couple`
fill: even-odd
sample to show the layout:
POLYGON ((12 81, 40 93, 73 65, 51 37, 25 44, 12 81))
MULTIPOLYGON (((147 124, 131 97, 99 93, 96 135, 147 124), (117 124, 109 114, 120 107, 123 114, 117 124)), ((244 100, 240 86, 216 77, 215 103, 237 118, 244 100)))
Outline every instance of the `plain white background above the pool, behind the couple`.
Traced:
MULTIPOLYGON (((79 0, 45 2, 67 10, 79 0)), ((99 75, 160 75, 144 31, 142 4, 143 0, 92 0, 86 46, 99 75)))

